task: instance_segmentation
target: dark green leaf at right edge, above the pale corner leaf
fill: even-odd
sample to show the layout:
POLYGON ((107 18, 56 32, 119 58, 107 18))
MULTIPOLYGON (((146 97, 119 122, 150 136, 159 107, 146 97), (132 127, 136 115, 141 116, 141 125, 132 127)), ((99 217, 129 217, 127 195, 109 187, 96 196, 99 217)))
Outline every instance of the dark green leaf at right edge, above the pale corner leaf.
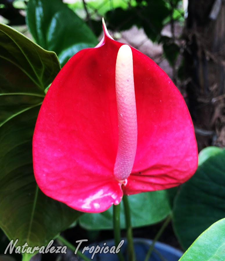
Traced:
MULTIPOLYGON (((173 225, 184 249, 225 216, 225 150, 218 151, 206 150, 212 156, 200 161, 195 175, 181 186, 175 199, 173 225)), ((204 154, 200 158, 205 158, 204 154)))

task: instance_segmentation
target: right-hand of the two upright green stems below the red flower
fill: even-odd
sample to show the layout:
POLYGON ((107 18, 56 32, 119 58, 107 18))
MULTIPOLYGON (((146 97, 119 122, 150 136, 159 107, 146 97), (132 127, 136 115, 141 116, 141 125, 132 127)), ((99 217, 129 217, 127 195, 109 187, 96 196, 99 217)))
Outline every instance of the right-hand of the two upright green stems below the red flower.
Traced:
POLYGON ((128 260, 135 261, 133 233, 132 233, 132 225, 131 225, 131 219, 130 219, 130 209, 129 209, 129 202, 128 202, 127 195, 123 195, 123 206, 124 206, 126 229, 127 229, 128 260))

